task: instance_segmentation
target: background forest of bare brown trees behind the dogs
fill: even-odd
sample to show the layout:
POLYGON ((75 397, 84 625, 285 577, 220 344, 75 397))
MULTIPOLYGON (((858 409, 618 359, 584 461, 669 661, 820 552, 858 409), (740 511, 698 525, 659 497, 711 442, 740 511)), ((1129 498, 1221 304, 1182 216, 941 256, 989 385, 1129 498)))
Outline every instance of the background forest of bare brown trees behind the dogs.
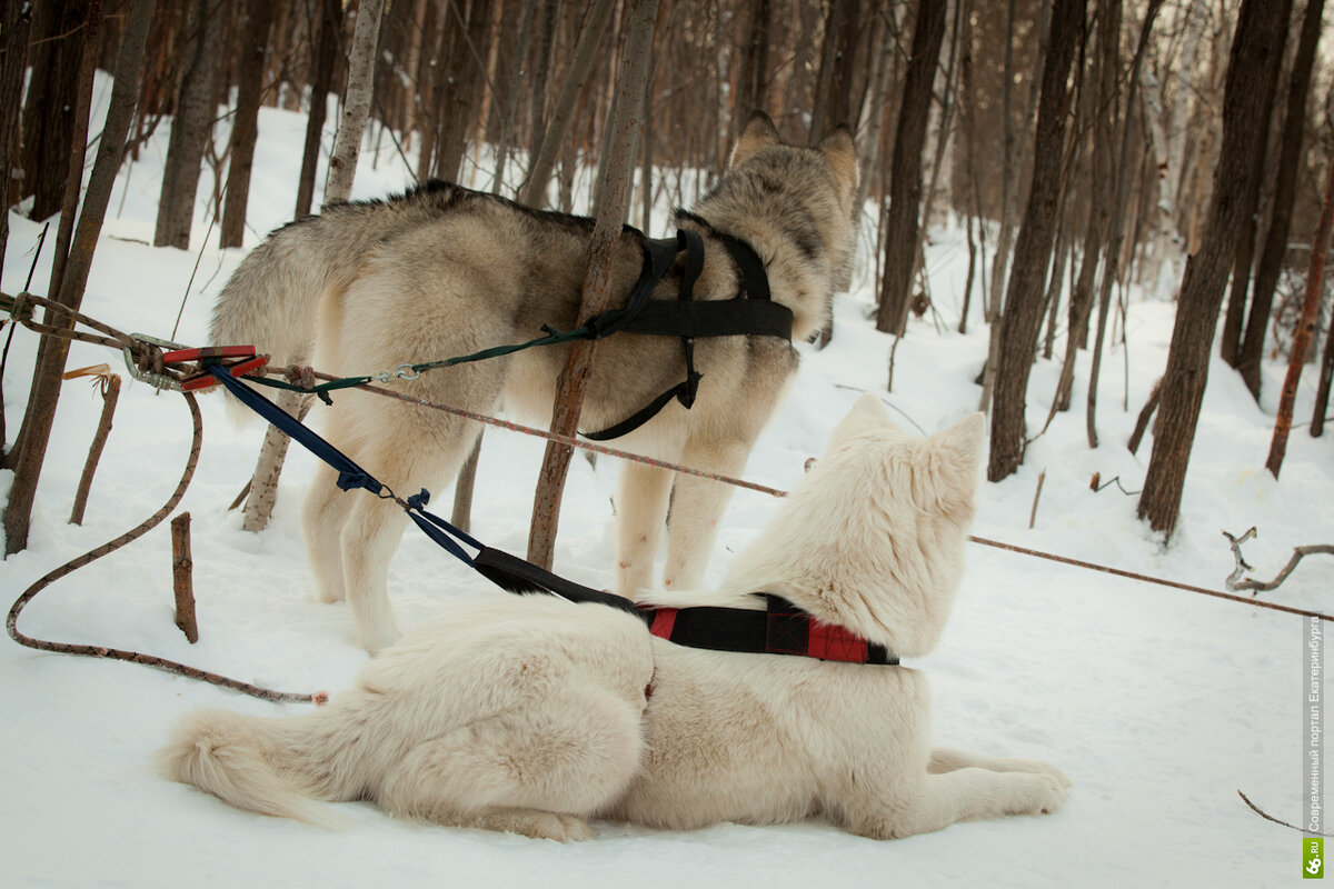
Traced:
MULTIPOLYGON (((596 189, 602 175, 578 171, 612 153, 610 121, 628 101, 639 175, 626 215, 647 225, 652 204, 687 204, 708 188, 752 109, 768 112, 788 140, 818 140, 848 123, 864 196, 858 281, 870 281, 879 300, 867 324, 911 336, 910 313, 936 313, 924 239, 946 221, 967 233, 970 287, 958 327, 991 328, 979 373, 991 480, 1013 473, 1043 431, 1026 424, 1037 356, 1062 367, 1055 392, 1041 400, 1053 415, 1082 413, 1090 446, 1106 444, 1095 380, 1103 352, 1126 335, 1129 288, 1179 295, 1159 401, 1146 405, 1157 415, 1139 502, 1141 516, 1170 534, 1213 351, 1258 399, 1259 363, 1286 349, 1298 324, 1334 151, 1323 0, 654 5, 643 52, 627 41, 631 13, 642 12, 632 0, 8 0, 0 13, 5 204, 32 219, 64 213, 73 232, 67 185, 85 149, 89 165, 95 152, 112 171, 133 164, 171 117, 155 243, 188 248, 196 204, 209 201, 219 244, 240 245, 255 200, 256 112, 269 105, 308 115, 292 217, 348 195, 350 181, 315 181, 316 160, 335 157, 335 180, 363 143, 402 155, 418 180, 454 179, 570 211, 595 204, 576 201, 576 189, 596 189), (144 40, 147 51, 136 52, 144 40), (618 83, 627 52, 646 69, 634 96, 618 83), (131 103, 124 135, 109 120, 107 131, 85 133, 92 64, 116 76, 131 103), (351 127, 350 156, 323 139, 325 96, 344 116, 340 139, 351 127), (494 151, 480 152, 483 144, 494 151), (205 165, 219 171, 217 193, 197 193, 205 165), (1093 381, 1075 387, 1081 372, 1093 381), (1089 393, 1083 404, 1074 404, 1075 391, 1089 393)), ((68 240, 63 249, 72 256, 68 240)), ((51 296, 77 305, 80 287, 67 277, 51 296)), ((1334 372, 1329 299, 1317 309, 1310 353, 1323 385, 1313 432, 1334 372)), ((884 372, 887 384, 907 385, 892 380, 892 367, 884 372)), ((39 376, 29 415, 39 395, 55 397, 51 385, 39 376)), ((23 468, 17 492, 23 473, 40 469, 44 433, 37 420, 15 432, 4 458, 23 468)), ((5 516, 11 550, 21 546, 15 502, 5 516)))

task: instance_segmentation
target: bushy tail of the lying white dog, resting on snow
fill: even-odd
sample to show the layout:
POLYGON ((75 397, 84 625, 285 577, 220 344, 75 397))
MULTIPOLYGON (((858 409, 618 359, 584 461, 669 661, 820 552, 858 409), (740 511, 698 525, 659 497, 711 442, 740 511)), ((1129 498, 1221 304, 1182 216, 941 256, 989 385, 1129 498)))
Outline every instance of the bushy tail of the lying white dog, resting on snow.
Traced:
POLYGON ((343 826, 344 818, 297 784, 299 769, 283 768, 283 758, 293 753, 292 738, 281 734, 277 720, 200 710, 181 721, 160 762, 173 781, 193 784, 239 809, 343 826))

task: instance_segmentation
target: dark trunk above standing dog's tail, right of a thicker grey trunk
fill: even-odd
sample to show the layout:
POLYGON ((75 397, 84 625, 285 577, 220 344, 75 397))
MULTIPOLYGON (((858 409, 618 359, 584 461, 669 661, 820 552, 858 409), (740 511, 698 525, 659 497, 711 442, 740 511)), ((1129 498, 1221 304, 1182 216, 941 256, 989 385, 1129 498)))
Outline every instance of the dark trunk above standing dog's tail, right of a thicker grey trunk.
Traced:
POLYGON ((249 204, 249 176, 255 164, 255 139, 259 135, 259 101, 264 89, 264 49, 275 7, 272 0, 245 3, 241 39, 244 64, 237 67, 236 116, 232 119, 228 148, 231 161, 227 165, 227 203, 223 207, 219 247, 240 247, 245 239, 245 207, 249 204))

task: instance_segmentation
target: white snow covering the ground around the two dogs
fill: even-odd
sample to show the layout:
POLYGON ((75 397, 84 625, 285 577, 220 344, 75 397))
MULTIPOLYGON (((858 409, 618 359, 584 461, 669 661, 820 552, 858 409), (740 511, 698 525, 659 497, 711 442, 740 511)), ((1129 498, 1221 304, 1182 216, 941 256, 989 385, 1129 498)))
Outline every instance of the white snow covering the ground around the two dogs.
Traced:
MULTIPOLYGON (((336 120, 336 116, 332 116, 336 120)), ((95 123, 96 127, 96 123, 95 123)), ((304 119, 264 109, 247 245, 289 219, 304 119)), ((225 131, 225 124, 221 128, 225 131)), ((221 133, 225 136, 225 133, 221 133)), ((191 252, 147 247, 160 183, 165 124, 121 172, 84 311, 123 331, 205 341, 208 308, 243 251, 217 251, 200 187, 191 252), (196 271, 197 263, 197 271, 196 271), (172 335, 185 299, 180 328, 172 335)), ((327 143, 328 144, 328 143, 327 143)), ((388 140, 386 140, 388 145, 388 140)), ((323 177, 323 171, 320 172, 323 177)), ((362 156, 355 196, 402 188, 390 151, 362 156)), ((662 216, 659 216, 659 227, 662 216)), ((3 287, 20 289, 40 227, 17 215, 3 287)), ((655 231, 654 235, 660 235, 655 231)), ((52 232, 53 236, 53 232, 52 232)), ((49 243, 53 237, 48 239, 49 243)), ((970 319, 956 332, 967 252, 962 232, 936 229, 928 248, 939 319, 914 320, 884 391, 891 339, 866 321, 870 263, 836 303, 823 352, 802 347, 791 396, 763 433, 746 477, 790 486, 806 457, 859 391, 876 391, 906 428, 936 431, 976 407, 972 380, 987 333, 970 319)), ((51 251, 32 291, 44 293, 51 251)), ((974 300, 974 312, 978 301, 974 300)), ((1107 349, 1099 391, 1101 446, 1085 439, 1089 377, 1081 356, 1075 409, 1029 448, 1022 469, 983 484, 974 533, 1033 549, 1222 589, 1233 557, 1219 533, 1255 525, 1246 544, 1255 576, 1270 578, 1291 548, 1334 541, 1330 439, 1294 429, 1282 478, 1265 469, 1283 368, 1266 364, 1259 408, 1235 373, 1214 361, 1191 457, 1179 529, 1166 548, 1135 517, 1151 450, 1125 448, 1135 415, 1166 364, 1171 292, 1133 293, 1129 345, 1107 349), (1029 529, 1038 473, 1046 470, 1029 529)), ((19 428, 36 337, 13 336, 4 379, 7 428, 19 428)), ((439 356, 423 356, 439 357, 439 356)), ((69 367, 120 357, 75 345, 69 367)), ((1029 428, 1041 429, 1059 368, 1039 360, 1029 428)), ((375 371, 378 368, 368 368, 375 371)), ((127 381, 128 383, 128 381, 127 381)), ((1314 368, 1297 417, 1310 416, 1314 368)), ((21 629, 41 638, 129 648, 284 690, 336 692, 367 656, 343 605, 321 605, 305 566, 297 513, 312 458, 295 449, 268 530, 240 530, 227 510, 248 477, 261 429, 232 428, 221 395, 201 399, 205 445, 180 509, 192 514, 200 641, 172 625, 171 542, 165 525, 41 593, 21 629)), ((156 510, 175 486, 189 445, 177 396, 128 384, 93 482, 83 526, 67 524, 100 397, 65 387, 37 493, 31 545, 0 566, 4 601, 33 580, 156 510)), ((486 435, 474 533, 523 552, 542 443, 486 435)), ((564 498, 556 568, 592 586, 611 584, 611 492, 616 461, 575 460, 564 498)), ((0 473, 0 494, 9 473, 0 473)), ((348 494, 354 496, 354 494, 348 494)), ((450 492, 436 492, 448 504, 450 492)), ((723 518, 710 577, 720 577, 774 504, 739 490, 723 518)), ((447 509, 444 509, 447 512, 447 509)), ((1334 561, 1305 560, 1274 601, 1329 612, 1334 561)), ((464 597, 500 594, 424 537, 408 532, 390 576, 400 625, 464 597)), ((1034 560, 974 545, 955 613, 936 652, 914 662, 931 676, 940 744, 1047 760, 1074 780, 1063 810, 1041 818, 960 824, 892 842, 844 834, 822 821, 779 828, 718 825, 671 833, 596 824, 596 837, 562 845, 515 836, 422 826, 368 805, 343 806, 354 825, 327 832, 231 809, 155 772, 169 728, 199 706, 283 714, 275 705, 137 665, 33 652, 0 642, 0 860, 7 886, 328 886, 391 882, 492 886, 746 886, 892 884, 903 886, 1289 885, 1299 866, 1295 832, 1263 821, 1242 789, 1278 818, 1305 824, 1309 620, 1034 560)))

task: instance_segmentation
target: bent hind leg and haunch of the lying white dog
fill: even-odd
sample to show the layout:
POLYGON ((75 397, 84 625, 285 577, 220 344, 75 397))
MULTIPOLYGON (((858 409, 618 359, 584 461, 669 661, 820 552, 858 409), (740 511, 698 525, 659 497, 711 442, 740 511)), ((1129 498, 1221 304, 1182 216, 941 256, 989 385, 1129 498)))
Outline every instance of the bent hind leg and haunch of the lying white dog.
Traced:
POLYGON ((586 840, 639 772, 640 710, 606 688, 558 686, 416 745, 375 793, 391 814, 447 826, 586 840))

